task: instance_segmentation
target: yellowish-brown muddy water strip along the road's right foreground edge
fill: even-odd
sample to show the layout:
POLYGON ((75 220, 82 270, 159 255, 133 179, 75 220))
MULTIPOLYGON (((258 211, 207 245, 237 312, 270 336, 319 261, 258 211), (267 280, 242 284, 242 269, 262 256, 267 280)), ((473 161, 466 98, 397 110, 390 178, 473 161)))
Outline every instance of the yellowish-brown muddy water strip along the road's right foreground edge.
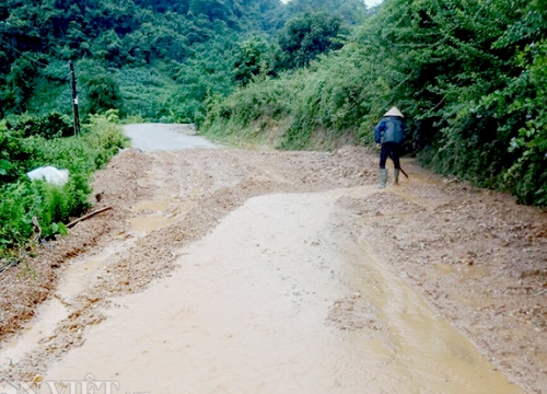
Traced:
MULTIPOLYGON (((354 268, 352 280, 358 285, 360 275, 369 281, 371 277, 374 279, 374 287, 361 289, 362 297, 377 306, 388 332, 384 343, 389 344, 393 350, 389 367, 384 372, 399 374, 414 387, 414 391, 400 387, 401 392, 520 392, 496 372, 465 337, 437 315, 418 293, 386 269, 365 241, 361 242, 360 255, 362 266, 354 268), (427 384, 418 383, 420 381, 427 384), (411 382, 418 385, 414 386, 411 382)), ((369 354, 371 356, 377 355, 369 354)))

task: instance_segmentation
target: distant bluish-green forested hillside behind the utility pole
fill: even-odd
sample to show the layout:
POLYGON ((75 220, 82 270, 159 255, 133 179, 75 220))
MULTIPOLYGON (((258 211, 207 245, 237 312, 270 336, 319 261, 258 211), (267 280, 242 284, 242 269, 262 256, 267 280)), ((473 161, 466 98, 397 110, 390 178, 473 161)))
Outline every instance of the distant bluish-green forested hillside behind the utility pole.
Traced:
MULTIPOLYGON (((360 0, 290 4, 280 0, 7 0, 0 5, 0 117, 51 111, 70 115, 68 61, 72 60, 83 119, 90 113, 117 108, 123 117, 199 121, 206 100, 236 86, 234 62, 242 42, 271 40, 286 21, 294 19, 295 24, 305 20, 300 15, 317 10, 339 16, 325 16, 322 26, 313 26, 313 38, 321 43, 305 44, 314 48, 311 55, 303 49, 304 57, 340 46, 331 39, 342 19, 351 25, 365 15, 360 0), (321 32, 327 32, 324 38, 321 32)), ((270 46, 268 57, 291 50, 270 46)), ((284 61, 290 63, 291 57, 284 61)))

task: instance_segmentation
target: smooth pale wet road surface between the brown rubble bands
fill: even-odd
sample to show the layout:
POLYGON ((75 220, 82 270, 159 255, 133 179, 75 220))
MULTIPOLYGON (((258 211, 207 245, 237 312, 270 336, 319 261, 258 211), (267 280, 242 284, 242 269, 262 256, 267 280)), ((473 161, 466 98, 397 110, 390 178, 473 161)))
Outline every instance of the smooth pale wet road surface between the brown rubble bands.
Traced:
POLYGON ((340 193, 249 199, 171 277, 118 298, 47 379, 93 373, 150 393, 520 393, 365 241, 337 233, 340 193), (362 328, 329 322, 337 304, 362 328))

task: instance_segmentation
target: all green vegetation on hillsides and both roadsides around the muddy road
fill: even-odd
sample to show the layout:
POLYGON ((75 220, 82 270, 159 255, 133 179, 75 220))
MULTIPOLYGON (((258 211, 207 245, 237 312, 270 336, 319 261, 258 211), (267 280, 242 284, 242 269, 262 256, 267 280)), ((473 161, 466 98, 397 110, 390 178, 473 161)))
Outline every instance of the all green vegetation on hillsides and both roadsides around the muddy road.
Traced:
POLYGON ((86 209, 93 171, 124 144, 113 108, 310 149, 370 143, 397 105, 424 165, 547 206, 546 86, 540 0, 7 0, 0 251, 25 243, 33 217, 50 235, 86 209), (78 137, 69 60, 89 125, 78 137), (69 183, 27 181, 42 165, 69 183))

